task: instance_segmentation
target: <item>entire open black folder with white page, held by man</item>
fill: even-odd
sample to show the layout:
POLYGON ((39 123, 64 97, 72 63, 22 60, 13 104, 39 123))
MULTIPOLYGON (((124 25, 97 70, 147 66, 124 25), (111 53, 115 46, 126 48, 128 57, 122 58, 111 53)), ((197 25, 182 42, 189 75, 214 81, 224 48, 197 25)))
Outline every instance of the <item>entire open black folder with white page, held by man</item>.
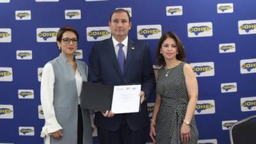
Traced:
POLYGON ((81 107, 113 113, 136 113, 140 111, 140 84, 109 86, 83 82, 81 107))

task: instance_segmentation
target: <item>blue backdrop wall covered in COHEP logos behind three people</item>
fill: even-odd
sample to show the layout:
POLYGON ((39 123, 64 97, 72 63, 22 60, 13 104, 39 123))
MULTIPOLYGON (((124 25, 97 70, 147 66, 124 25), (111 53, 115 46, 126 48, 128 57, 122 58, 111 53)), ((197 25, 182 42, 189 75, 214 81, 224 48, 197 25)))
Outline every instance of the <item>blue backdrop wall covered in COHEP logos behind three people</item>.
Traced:
POLYGON ((40 76, 59 54, 56 31, 74 26, 77 58, 88 62, 93 41, 110 36, 115 8, 131 12, 129 36, 150 45, 154 63, 159 36, 179 35, 198 78, 198 143, 228 144, 230 126, 255 115, 256 1, 49 1, 0 0, 0 143, 43 143, 40 76))

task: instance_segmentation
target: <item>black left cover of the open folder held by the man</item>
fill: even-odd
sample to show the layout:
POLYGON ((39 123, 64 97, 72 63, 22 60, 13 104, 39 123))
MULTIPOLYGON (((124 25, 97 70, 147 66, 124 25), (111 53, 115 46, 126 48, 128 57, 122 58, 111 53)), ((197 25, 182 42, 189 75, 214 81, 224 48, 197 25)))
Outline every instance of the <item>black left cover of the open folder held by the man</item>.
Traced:
POLYGON ((81 108, 102 111, 111 110, 114 86, 83 82, 81 108))

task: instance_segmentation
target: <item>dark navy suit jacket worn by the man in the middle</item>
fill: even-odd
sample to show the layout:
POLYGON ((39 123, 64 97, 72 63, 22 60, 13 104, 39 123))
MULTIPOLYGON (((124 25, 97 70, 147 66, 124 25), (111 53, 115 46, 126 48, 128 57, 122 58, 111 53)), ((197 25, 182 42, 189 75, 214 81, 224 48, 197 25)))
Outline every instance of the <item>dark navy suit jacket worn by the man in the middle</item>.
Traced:
MULTIPOLYGON (((89 58, 88 81, 108 85, 141 84, 145 98, 151 95, 155 87, 155 77, 148 45, 138 40, 128 39, 127 56, 122 74, 115 54, 112 38, 93 44, 89 58)), ((116 114, 105 118, 101 112, 95 113, 95 125, 109 131, 117 131, 125 116, 132 131, 149 124, 147 101, 141 104, 138 113, 116 114)))

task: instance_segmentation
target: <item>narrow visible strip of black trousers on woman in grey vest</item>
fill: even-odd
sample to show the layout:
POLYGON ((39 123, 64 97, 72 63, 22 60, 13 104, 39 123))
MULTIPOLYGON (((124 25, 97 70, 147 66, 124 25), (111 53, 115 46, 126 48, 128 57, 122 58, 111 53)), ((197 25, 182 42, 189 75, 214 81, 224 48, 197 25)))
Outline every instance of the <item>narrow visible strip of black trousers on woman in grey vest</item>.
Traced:
POLYGON ((83 144, 83 115, 80 105, 78 105, 78 118, 77 118, 77 144, 83 144))

